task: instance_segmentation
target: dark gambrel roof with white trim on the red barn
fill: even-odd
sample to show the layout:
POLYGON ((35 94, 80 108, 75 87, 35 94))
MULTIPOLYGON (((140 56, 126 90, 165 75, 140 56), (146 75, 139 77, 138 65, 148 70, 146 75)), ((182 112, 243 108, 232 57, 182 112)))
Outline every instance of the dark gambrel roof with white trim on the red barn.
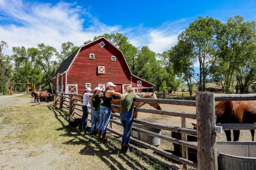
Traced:
MULTIPOLYGON (((100 38, 97 39, 97 40, 94 40, 94 41, 91 41, 91 42, 88 42, 88 43, 82 45, 82 46, 79 47, 73 54, 69 55, 68 58, 66 58, 66 59, 60 64, 60 67, 58 68, 57 73, 62 74, 62 73, 67 72, 68 69, 70 68, 71 64, 73 63, 74 59, 76 58, 76 55, 77 55, 77 54, 79 53, 79 51, 81 50, 81 48, 84 47, 84 46, 87 46, 87 45, 89 45, 89 44, 91 44, 91 43, 93 43, 93 42, 95 42, 95 41, 98 41, 98 40, 100 40, 100 39, 104 39, 104 40, 108 41, 106 38, 100 37, 100 38)), ((108 42, 109 42, 111 45, 113 45, 117 50, 119 50, 119 51, 122 53, 123 57, 124 57, 123 52, 122 52, 119 48, 117 48, 117 47, 116 47, 114 44, 112 44, 110 41, 108 41, 108 42)), ((125 60, 125 57, 124 57, 124 61, 125 61, 125 63, 126 63, 127 66, 128 66, 128 63, 127 63, 127 61, 125 60)), ((135 76, 135 75, 132 74, 132 71, 131 71, 131 69, 130 69, 129 66, 128 66, 128 69, 130 70, 130 73, 131 73, 132 76, 134 76, 134 77, 136 77, 136 78, 139 78, 139 77, 137 77, 137 76, 135 76)), ((53 77, 53 78, 54 78, 54 77, 53 77)), ((142 78, 139 78, 139 79, 143 80, 142 78)), ((146 80, 143 80, 143 81, 145 81, 145 82, 147 82, 147 83, 149 83, 149 84, 151 84, 151 85, 154 85, 154 84, 152 84, 152 83, 150 83, 150 82, 148 82, 148 81, 146 81, 146 80)), ((156 85, 154 85, 154 86, 156 86, 156 85)))

